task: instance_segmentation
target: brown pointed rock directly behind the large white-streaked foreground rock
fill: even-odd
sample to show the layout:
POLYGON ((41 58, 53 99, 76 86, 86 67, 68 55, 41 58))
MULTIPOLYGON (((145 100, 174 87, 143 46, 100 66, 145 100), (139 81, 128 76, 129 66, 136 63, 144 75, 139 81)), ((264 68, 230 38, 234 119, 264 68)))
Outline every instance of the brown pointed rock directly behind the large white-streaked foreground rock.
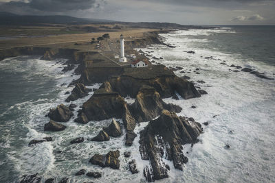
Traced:
POLYGON ((135 102, 131 105, 132 114, 136 121, 150 121, 166 109, 173 112, 181 112, 181 107, 167 104, 162 101, 159 93, 151 86, 143 86, 137 94, 135 102))

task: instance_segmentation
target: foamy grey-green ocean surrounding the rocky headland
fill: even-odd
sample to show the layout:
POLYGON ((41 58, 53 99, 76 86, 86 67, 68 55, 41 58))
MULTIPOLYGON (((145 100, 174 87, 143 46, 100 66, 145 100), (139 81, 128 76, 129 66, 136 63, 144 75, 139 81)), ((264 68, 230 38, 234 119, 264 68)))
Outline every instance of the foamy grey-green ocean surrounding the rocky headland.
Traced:
MULTIPOLYGON (((151 45, 142 51, 151 55, 151 60, 154 56, 164 58, 155 62, 167 67, 183 67, 175 74, 190 77, 195 86, 208 93, 195 99, 164 101, 181 106, 179 115, 208 125, 203 125, 199 143, 192 148, 184 145, 189 159, 184 170, 176 170, 168 162, 169 178, 157 182, 275 182, 275 82, 229 70, 241 70, 230 67, 234 64, 274 78, 275 27, 227 26, 160 36, 175 48, 151 45), (197 82, 201 80, 204 83, 197 82)), ((80 125, 71 119, 63 132, 43 132, 43 125, 49 121, 45 114, 60 103, 69 104, 64 101, 65 92, 72 87, 67 86, 79 75, 62 72, 66 60, 39 58, 19 56, 0 61, 0 182, 19 182, 21 175, 34 173, 39 173, 43 181, 67 177, 71 182, 145 182, 142 167, 148 161, 140 159, 138 132, 148 122, 136 127, 138 136, 132 147, 124 146, 124 136, 102 143, 87 141, 110 120, 80 125), (54 141, 28 147, 32 139, 45 136, 52 136, 54 141), (85 137, 84 143, 69 145, 79 136, 85 137), (132 151, 140 173, 132 175, 123 156, 119 171, 89 163, 94 154, 106 154, 111 149, 132 151), (80 169, 100 171, 102 178, 74 176, 80 169)), ((74 103, 79 108, 92 94, 74 103)), ((132 103, 133 99, 126 101, 132 103)))

